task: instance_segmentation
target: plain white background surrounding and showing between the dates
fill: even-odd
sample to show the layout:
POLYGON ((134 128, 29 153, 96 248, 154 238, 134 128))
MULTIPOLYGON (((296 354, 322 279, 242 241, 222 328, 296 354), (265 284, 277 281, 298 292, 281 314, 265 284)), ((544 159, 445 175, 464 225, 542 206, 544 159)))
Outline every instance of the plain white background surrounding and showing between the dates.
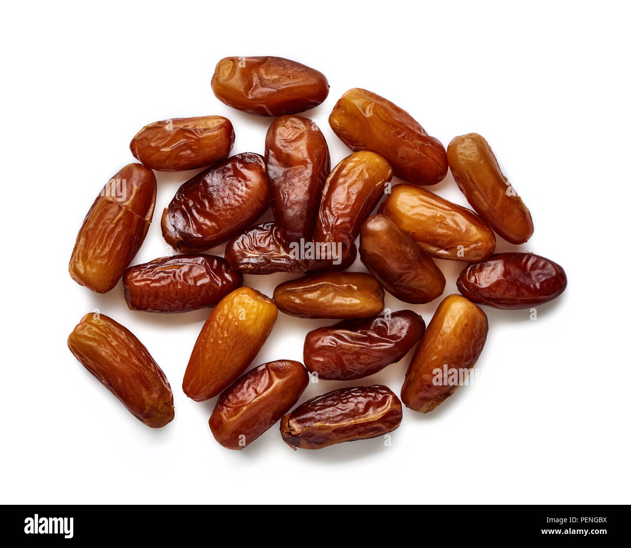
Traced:
MULTIPOLYGON (((627 5, 7 4, 0 502, 629 503, 627 5), (271 120, 211 92, 216 62, 231 55, 285 56, 326 74, 329 98, 305 116, 333 164, 349 151, 327 117, 355 86, 401 105, 445 146, 482 134, 533 214, 534 236, 519 248, 567 271, 565 294, 536 321, 485 307, 479 382, 430 414, 406 409, 390 447, 378 438, 294 452, 274 426, 244 451, 225 450, 208 428, 215 400, 181 389, 209 310, 132 312, 121 283, 97 295, 68 275, 86 211, 135 161, 128 145, 144 124, 221 114, 235 126, 233 153, 263 153, 271 120), (176 412, 164 429, 134 419, 66 347, 94 307, 130 328, 170 379, 176 412)), ((134 264, 169 253, 160 215, 192 174, 156 174, 154 222, 134 264)), ((451 174, 431 189, 465 204, 451 174)), ((514 247, 498 239, 497 249, 514 247)), ((455 292, 464 265, 438 263, 445 295, 455 292)), ((245 283, 271 295, 287 278, 245 283)), ((386 306, 428 322, 438 302, 388 295, 386 306)), ((305 333, 331 323, 279 314, 252 366, 302 360, 305 333)), ((410 357, 354 384, 398 392, 410 357)), ((302 401, 350 384, 312 384, 302 401)))

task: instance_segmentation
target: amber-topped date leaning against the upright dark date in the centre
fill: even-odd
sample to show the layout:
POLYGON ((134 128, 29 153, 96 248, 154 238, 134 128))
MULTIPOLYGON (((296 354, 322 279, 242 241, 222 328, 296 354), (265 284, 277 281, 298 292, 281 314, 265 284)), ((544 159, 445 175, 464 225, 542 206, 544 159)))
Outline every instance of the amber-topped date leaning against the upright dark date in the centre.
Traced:
POLYGON ((314 242, 340 244, 348 253, 391 179, 390 164, 374 152, 354 152, 339 162, 322 189, 314 242))

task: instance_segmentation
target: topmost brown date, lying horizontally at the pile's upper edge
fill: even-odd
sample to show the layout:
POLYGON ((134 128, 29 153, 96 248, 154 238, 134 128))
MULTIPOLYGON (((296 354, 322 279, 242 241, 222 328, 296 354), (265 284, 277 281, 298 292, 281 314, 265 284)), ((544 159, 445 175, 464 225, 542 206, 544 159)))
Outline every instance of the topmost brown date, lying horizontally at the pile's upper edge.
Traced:
POLYGON ((324 74, 283 57, 224 57, 211 86, 228 107, 259 116, 304 112, 329 95, 324 74))

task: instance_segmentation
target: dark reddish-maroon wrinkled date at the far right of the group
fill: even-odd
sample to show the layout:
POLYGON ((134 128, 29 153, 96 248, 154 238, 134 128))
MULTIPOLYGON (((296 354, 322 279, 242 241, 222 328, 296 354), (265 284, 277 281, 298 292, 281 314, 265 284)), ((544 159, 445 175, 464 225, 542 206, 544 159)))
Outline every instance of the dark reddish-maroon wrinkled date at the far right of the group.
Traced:
POLYGON ((456 280, 467 299, 493 308, 530 308, 556 299, 567 287, 561 265, 533 253, 498 253, 467 266, 456 280))

